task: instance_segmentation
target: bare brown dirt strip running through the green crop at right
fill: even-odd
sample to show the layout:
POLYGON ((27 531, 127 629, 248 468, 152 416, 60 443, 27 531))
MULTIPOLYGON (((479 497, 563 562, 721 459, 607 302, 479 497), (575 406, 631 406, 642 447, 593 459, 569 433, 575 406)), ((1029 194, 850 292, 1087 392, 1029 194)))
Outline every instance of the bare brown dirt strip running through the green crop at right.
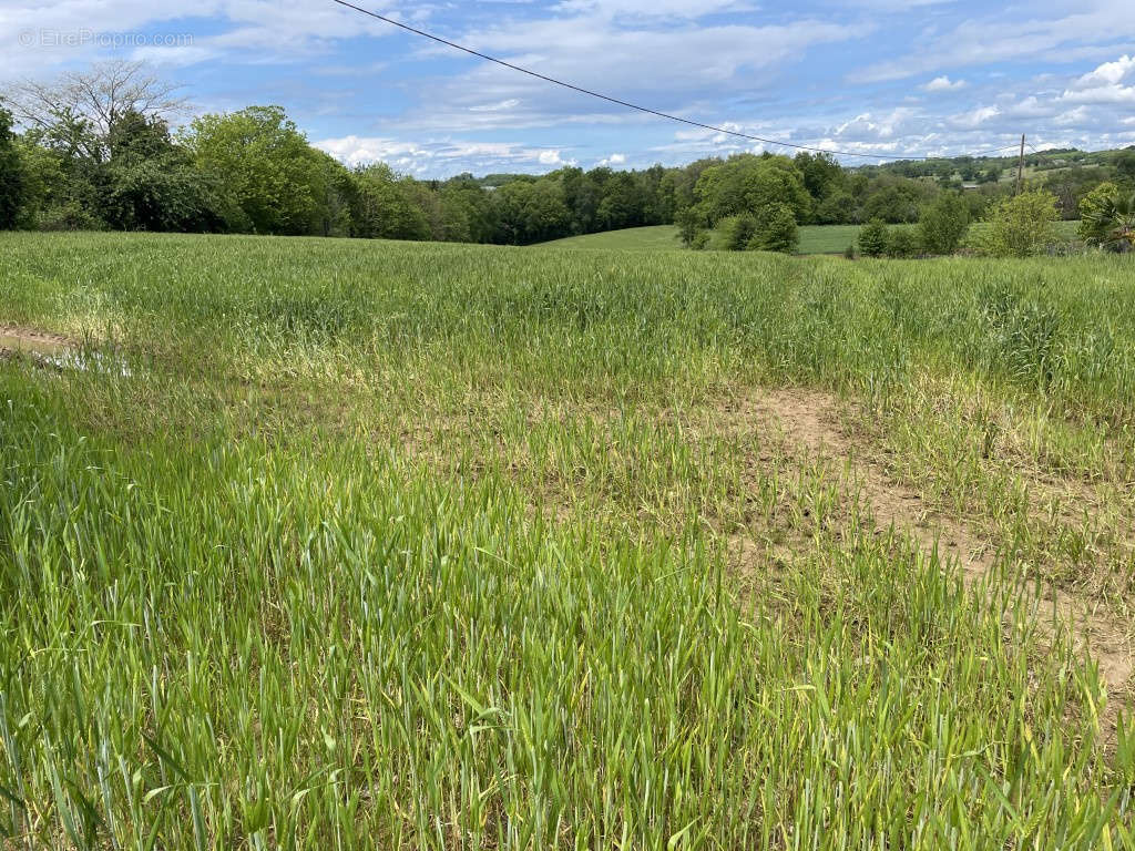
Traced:
MULTIPOLYGON (((763 390, 742 405, 740 415, 768 422, 784 437, 814 456, 846 464, 852 487, 858 488, 880 528, 892 526, 930 551, 936 546, 943 556, 958 559, 967 585, 978 581, 997 562, 997 542, 975 534, 959 517, 934 511, 913 488, 891 478, 869 447, 860 447, 840 426, 835 398, 814 390, 763 390)), ((751 421, 751 420, 750 420, 751 421)), ((1101 713, 1107 742, 1115 740, 1119 709, 1130 697, 1135 654, 1126 635, 1128 624, 1120 623, 1099 606, 1059 589, 1045 589, 1037 606, 1037 630, 1042 638, 1056 640, 1057 626, 1046 613, 1056 613, 1073 638, 1075 647, 1096 662, 1109 697, 1101 713)))

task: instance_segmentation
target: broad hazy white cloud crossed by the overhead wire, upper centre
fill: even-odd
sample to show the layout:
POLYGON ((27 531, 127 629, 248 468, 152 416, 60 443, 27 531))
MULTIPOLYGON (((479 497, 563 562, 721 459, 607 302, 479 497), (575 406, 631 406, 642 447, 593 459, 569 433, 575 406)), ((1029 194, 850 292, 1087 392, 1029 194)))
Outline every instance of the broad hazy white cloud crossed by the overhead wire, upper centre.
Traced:
MULTIPOLYGON (((507 61, 595 91, 682 112, 701 98, 720 101, 725 87, 776 91, 775 73, 810 48, 857 37, 864 26, 809 18, 767 26, 723 24, 624 27, 603 15, 511 20, 455 36, 507 61)), ((424 56, 443 56, 432 47, 424 56)), ((494 65, 474 65, 438 79, 429 103, 405 117, 427 132, 508 130, 572 124, 655 121, 578 92, 549 86, 494 65), (486 102, 519 101, 507 111, 471 111, 486 102)), ((704 117, 701 113, 699 118, 704 117)))

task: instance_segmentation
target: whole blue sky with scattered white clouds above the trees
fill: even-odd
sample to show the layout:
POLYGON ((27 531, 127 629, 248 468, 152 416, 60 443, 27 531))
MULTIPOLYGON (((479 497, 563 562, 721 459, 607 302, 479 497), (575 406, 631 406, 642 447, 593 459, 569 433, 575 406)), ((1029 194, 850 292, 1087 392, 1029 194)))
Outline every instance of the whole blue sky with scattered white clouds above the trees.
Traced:
MULTIPOLYGON (((358 5, 585 87, 847 151, 1135 144, 1130 0, 495 0, 358 5)), ((641 167, 783 150, 686 127, 455 53, 330 0, 0 0, 0 79, 110 57, 195 112, 285 107, 348 163, 407 174, 641 167)), ((850 162, 872 160, 847 160, 850 162)))

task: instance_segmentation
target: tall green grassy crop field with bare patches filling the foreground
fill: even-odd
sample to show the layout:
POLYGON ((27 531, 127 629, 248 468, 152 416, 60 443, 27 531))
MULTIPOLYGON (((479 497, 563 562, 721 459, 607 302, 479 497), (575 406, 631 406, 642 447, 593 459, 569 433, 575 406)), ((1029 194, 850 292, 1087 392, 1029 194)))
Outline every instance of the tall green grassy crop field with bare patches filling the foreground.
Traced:
POLYGON ((1130 280, 0 235, 5 848, 1130 848, 1130 280))

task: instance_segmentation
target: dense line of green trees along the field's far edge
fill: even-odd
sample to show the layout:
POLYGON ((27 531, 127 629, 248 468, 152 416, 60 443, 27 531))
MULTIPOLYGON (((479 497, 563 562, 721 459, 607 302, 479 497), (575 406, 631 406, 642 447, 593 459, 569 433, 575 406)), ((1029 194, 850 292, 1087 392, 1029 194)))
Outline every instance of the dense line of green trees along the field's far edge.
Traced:
MULTIPOLYGON (((791 251, 799 225, 914 224, 927 210, 976 220, 1011 191, 999 183, 1000 160, 849 169, 809 152, 419 180, 382 163, 344 166, 280 107, 203 115, 173 129, 184 107, 175 92, 133 62, 6 89, 0 227, 527 245, 676 224, 692 247, 724 234, 724 247, 791 251), (967 179, 976 183, 962 191, 967 179)), ((1135 185, 1135 151, 1045 180, 1058 213, 1075 218, 1101 184, 1135 185)))

